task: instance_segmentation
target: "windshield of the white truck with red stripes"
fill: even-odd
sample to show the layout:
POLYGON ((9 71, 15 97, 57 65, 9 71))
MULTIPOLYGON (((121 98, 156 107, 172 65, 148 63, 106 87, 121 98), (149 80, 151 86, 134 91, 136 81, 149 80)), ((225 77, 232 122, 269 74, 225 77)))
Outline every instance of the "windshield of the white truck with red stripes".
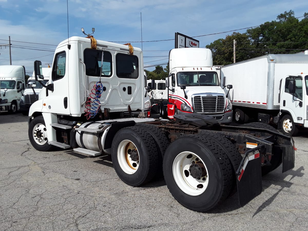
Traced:
POLYGON ((176 78, 178 86, 219 86, 215 71, 178 72, 176 78))

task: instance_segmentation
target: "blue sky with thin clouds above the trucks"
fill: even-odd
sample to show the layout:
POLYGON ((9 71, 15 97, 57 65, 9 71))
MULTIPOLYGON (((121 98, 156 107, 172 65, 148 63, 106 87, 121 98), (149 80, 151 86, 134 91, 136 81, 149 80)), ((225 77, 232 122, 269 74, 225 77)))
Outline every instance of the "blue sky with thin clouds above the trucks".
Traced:
MULTIPOLYGON (((134 47, 141 48, 141 43, 137 43, 141 41, 140 12, 142 40, 153 41, 174 39, 175 32, 193 37, 257 26, 276 20, 278 14, 289 10, 294 11, 295 17, 301 17, 308 12, 308 2, 68 0, 69 36, 84 37, 81 27, 86 33, 95 27, 96 39, 132 42, 134 47)), ((52 63, 56 45, 67 39, 67 1, 0 0, 0 31, 0 45, 8 44, 8 36, 11 37, 12 65, 24 65, 28 74, 33 72, 34 60, 41 60, 43 67, 47 67, 45 63, 52 63)), ((200 40, 200 47, 205 47, 228 34, 232 32, 196 39, 200 40)), ((1 48, 0 65, 9 65, 9 49, 1 48)), ((174 40, 144 42, 142 48, 144 66, 167 63, 174 40)), ((155 67, 146 69, 152 71, 155 67)))

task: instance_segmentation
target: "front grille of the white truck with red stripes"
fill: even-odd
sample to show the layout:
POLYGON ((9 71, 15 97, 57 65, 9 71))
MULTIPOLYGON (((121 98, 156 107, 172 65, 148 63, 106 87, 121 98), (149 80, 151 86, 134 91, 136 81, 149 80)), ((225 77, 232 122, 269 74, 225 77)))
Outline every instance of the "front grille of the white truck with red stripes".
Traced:
POLYGON ((194 110, 197 113, 218 113, 225 111, 225 97, 217 96, 194 96, 194 110))

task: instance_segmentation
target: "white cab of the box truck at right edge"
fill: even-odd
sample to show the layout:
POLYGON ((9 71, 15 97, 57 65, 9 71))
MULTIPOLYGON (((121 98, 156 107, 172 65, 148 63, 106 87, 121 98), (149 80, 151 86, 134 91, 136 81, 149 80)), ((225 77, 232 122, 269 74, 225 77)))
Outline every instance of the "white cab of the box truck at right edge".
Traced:
POLYGON ((308 73, 282 78, 279 100, 279 127, 283 133, 296 135, 298 128, 308 128, 308 73))

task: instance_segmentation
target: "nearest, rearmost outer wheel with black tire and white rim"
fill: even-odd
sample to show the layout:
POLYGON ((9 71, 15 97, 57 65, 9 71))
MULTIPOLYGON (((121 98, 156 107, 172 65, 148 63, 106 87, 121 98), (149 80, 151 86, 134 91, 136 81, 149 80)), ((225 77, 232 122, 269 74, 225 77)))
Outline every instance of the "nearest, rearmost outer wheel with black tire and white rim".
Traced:
MULTIPOLYGON (((173 141, 164 155, 163 171, 165 182, 172 196, 184 207, 197 212, 212 209, 218 203, 224 201, 232 189, 232 165, 228 156, 221 149, 221 146, 217 145, 217 142, 201 134, 183 136, 173 141), (193 153, 193 155, 190 153, 193 153), (204 162, 207 169, 206 176, 209 176, 209 180, 205 188, 203 188, 203 183, 198 184, 200 181, 195 177, 186 174, 185 171, 188 172, 188 170, 184 170, 185 166, 187 167, 191 163, 186 164, 184 161, 190 161, 189 158, 191 157, 198 161, 194 155, 199 157, 201 162, 204 162), (181 158, 183 158, 183 161, 177 162, 181 158), (180 170, 177 171, 178 168, 176 167, 180 170), (181 172, 181 174, 174 175, 173 172, 181 172), (175 179, 181 183, 177 183, 175 179), (197 184, 197 188, 193 188, 193 193, 188 193, 191 187, 189 183, 185 182, 197 184), (194 193, 195 195, 193 195, 194 193)), ((193 171, 190 174, 192 173, 193 171)), ((201 177, 202 180, 207 179, 204 176, 201 177)))

